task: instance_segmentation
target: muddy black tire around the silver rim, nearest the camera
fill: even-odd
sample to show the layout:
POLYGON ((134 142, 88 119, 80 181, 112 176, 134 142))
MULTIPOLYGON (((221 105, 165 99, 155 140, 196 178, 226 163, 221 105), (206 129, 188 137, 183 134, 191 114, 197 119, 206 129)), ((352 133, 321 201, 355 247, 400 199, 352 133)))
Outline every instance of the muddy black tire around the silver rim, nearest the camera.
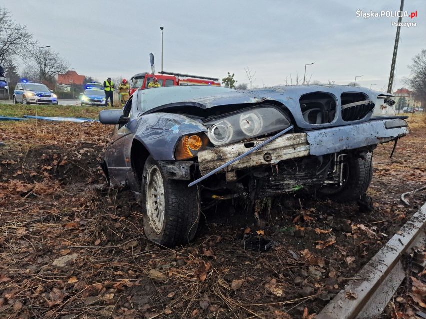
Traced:
MULTIPOLYGON (((142 173, 141 206, 143 208, 143 224, 145 235, 153 242, 166 247, 187 244, 194 239, 199 222, 198 191, 196 187, 188 187, 188 182, 167 179, 161 171, 158 162, 151 156, 145 161, 142 173), (157 201, 157 206, 164 206, 164 217, 161 226, 155 223, 155 217, 149 216, 155 210, 155 204, 149 204, 148 182, 152 176, 161 174, 164 194, 157 201, 157 195, 151 195, 151 202, 157 201), (151 205, 151 206, 150 206, 151 205), (155 229, 157 227, 157 229, 155 229)), ((152 215, 151 215, 152 216, 152 215)))

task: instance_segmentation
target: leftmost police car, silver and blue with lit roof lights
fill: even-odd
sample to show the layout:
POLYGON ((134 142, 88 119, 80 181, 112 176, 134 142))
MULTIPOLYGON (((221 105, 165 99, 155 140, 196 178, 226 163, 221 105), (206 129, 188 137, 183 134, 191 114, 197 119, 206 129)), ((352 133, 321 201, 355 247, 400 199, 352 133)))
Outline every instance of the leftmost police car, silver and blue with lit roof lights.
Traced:
POLYGON ((16 84, 13 104, 58 104, 57 95, 42 83, 22 81, 16 84))

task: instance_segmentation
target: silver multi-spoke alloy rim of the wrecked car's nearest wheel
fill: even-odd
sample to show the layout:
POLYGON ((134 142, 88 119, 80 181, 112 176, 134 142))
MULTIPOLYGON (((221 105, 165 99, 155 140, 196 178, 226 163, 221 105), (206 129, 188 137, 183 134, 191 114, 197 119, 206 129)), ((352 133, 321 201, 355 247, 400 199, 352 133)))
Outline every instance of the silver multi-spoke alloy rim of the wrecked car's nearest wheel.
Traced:
POLYGON ((147 173, 145 201, 149 224, 159 234, 164 224, 164 183, 160 169, 155 165, 147 173))

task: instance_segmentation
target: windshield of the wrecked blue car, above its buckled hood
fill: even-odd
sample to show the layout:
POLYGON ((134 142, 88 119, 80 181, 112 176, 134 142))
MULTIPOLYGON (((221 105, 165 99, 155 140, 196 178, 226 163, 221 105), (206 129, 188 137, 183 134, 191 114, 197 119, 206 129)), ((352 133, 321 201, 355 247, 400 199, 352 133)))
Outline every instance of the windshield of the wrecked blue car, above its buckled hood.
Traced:
POLYGON ((141 111, 146 112, 161 105, 185 102, 232 91, 235 90, 222 86, 165 86, 140 90, 137 98, 141 111))

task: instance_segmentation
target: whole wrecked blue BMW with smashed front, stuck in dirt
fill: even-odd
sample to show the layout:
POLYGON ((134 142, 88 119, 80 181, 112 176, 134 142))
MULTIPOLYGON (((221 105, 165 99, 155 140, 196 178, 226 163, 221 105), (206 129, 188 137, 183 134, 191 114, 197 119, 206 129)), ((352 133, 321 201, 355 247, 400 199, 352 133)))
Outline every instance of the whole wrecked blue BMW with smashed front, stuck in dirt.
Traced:
POLYGON ((123 110, 99 114, 116 125, 102 167, 136 194, 149 239, 183 244, 217 200, 240 198, 250 211, 296 191, 360 199, 377 144, 408 133, 391 97, 340 85, 137 90, 123 110))

